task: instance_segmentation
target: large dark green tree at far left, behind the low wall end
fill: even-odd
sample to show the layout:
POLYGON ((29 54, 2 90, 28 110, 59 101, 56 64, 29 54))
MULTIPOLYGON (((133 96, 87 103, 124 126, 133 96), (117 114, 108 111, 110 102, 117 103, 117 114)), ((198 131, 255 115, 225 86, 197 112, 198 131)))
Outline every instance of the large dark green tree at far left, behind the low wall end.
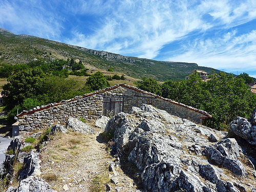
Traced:
POLYGON ((3 86, 6 109, 12 109, 26 98, 35 98, 41 94, 42 82, 46 74, 39 68, 25 69, 8 78, 3 86))

